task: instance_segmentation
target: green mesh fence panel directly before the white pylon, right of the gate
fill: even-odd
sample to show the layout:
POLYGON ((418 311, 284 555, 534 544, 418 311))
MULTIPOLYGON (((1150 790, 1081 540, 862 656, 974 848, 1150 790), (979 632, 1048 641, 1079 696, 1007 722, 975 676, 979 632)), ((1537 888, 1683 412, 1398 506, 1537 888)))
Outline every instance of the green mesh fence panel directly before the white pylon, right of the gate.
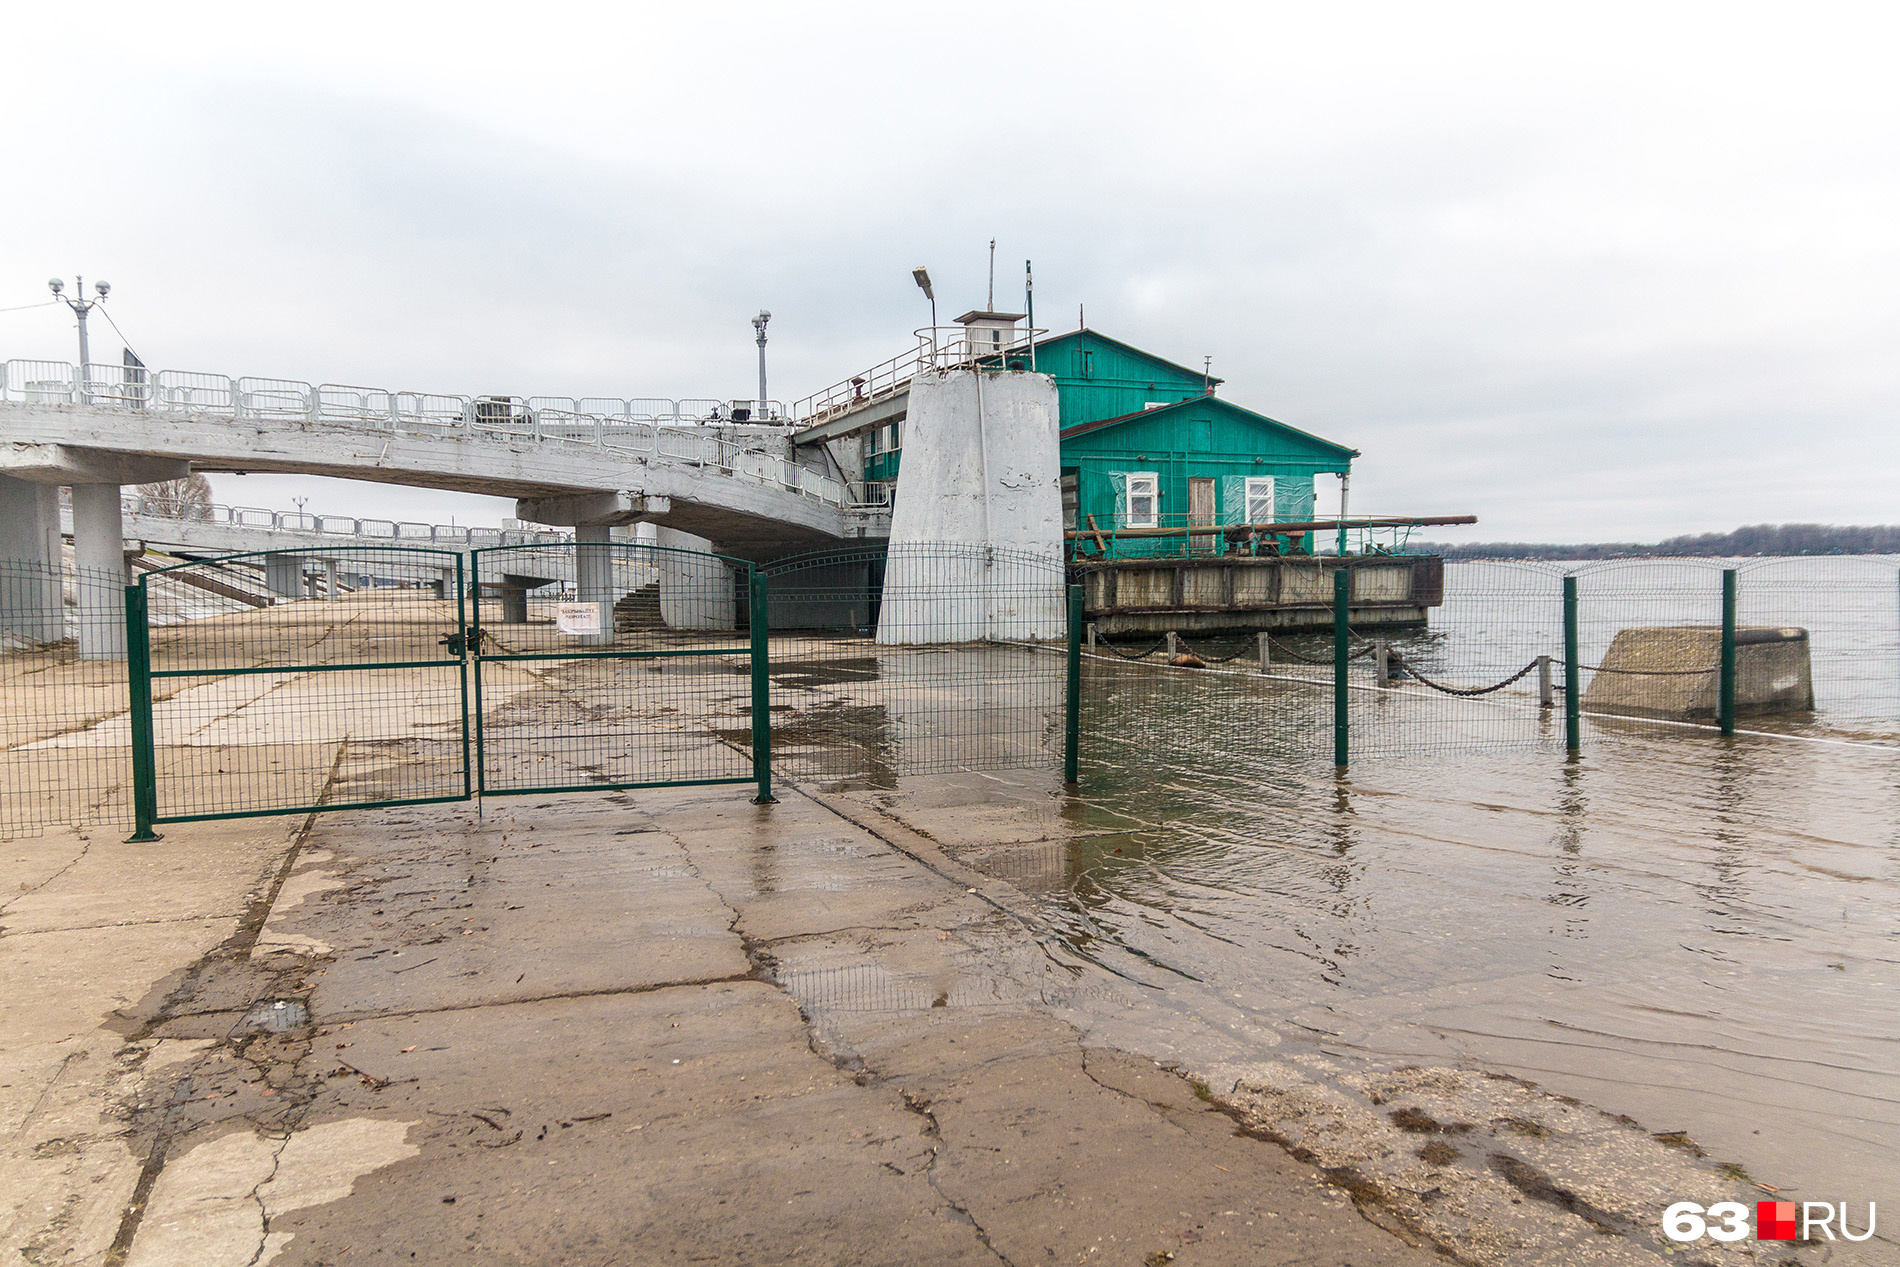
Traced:
POLYGON ((899 545, 788 558, 766 576, 775 769, 889 785, 1060 764, 1058 560, 899 545))

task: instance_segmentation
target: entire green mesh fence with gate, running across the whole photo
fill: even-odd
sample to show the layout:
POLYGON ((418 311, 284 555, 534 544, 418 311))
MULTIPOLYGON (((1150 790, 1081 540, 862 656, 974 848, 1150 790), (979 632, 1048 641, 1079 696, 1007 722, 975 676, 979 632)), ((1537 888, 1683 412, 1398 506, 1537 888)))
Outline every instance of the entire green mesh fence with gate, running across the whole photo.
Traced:
POLYGON ((1256 781, 1725 731, 1900 747, 1885 557, 1454 562, 1431 627, 1355 629, 1336 595, 1328 631, 1110 646, 1058 564, 982 547, 344 553, 321 600, 266 593, 272 553, 152 570, 122 591, 131 619, 91 633, 80 587, 122 577, 0 564, 0 834, 560 788, 770 798, 773 769, 1074 781, 1110 747, 1123 769, 1220 752, 1256 781), (120 636, 127 661, 87 659, 120 636))

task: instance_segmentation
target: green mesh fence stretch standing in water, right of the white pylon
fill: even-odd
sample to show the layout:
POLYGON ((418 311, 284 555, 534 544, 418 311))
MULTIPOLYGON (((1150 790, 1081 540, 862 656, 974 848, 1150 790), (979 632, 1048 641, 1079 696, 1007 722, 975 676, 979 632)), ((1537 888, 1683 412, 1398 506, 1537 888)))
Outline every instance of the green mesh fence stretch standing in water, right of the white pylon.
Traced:
POLYGON ((1250 633, 1092 640, 1083 733, 1246 733, 1262 756, 1341 766, 1657 733, 1900 745, 1894 558, 1448 562, 1429 627, 1332 614, 1332 634, 1267 636, 1265 661, 1250 633), (1208 669, 1165 667, 1176 650, 1208 669))

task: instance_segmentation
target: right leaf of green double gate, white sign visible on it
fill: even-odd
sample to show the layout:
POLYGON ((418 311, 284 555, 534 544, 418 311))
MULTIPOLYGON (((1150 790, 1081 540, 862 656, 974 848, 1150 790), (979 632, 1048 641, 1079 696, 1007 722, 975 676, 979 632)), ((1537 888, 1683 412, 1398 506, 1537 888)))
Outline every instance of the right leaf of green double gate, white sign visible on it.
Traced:
POLYGON ((771 800, 764 577, 636 541, 475 551, 483 796, 756 783, 771 800))

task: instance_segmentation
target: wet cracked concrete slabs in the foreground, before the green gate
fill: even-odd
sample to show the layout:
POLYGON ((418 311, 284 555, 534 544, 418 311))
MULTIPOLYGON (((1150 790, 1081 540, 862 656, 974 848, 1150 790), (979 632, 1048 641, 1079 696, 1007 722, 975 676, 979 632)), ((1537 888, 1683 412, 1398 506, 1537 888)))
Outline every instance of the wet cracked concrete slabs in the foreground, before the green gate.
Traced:
POLYGON ((798 794, 321 821, 251 955, 129 1009, 196 1047, 124 1261, 1436 1261, 1085 1047, 990 887, 798 794))

